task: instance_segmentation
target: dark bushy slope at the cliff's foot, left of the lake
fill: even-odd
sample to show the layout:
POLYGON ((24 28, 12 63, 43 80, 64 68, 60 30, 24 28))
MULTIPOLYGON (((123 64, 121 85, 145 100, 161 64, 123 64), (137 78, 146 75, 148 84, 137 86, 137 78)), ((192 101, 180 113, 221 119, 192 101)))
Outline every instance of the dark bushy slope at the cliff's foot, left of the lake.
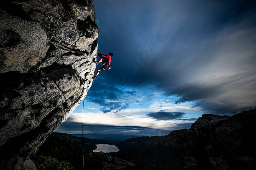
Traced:
MULTIPOLYGON (((37 170, 81 170, 82 149, 71 138, 53 138, 41 145, 31 158, 37 170)), ((102 170, 99 158, 84 151, 84 169, 102 170)))

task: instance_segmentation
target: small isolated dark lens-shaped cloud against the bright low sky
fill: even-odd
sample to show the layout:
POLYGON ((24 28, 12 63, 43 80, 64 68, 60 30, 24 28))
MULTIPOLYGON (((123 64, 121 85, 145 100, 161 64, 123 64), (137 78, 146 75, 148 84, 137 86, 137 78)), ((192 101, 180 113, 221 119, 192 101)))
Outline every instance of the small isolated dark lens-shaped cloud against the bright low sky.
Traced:
POLYGON ((156 120, 174 120, 176 118, 181 118, 185 113, 183 112, 154 112, 148 113, 149 117, 153 117, 156 120))

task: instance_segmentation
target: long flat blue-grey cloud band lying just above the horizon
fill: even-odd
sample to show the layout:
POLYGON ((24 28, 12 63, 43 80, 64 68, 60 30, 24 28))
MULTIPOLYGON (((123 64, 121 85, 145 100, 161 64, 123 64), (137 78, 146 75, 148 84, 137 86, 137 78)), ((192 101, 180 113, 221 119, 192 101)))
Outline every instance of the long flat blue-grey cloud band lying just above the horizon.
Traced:
MULTIPOLYGON (((185 128, 184 125, 174 126, 174 130, 177 128, 185 128)), ((187 126, 186 126, 187 127, 187 126)), ((73 122, 69 117, 65 123, 62 123, 55 132, 69 133, 69 134, 81 134, 82 123, 73 122)), ((112 125, 98 125, 98 124, 84 124, 84 133, 101 133, 101 134, 122 134, 122 135, 138 135, 138 136, 164 136, 170 133, 170 130, 161 130, 140 126, 112 126, 112 125)))

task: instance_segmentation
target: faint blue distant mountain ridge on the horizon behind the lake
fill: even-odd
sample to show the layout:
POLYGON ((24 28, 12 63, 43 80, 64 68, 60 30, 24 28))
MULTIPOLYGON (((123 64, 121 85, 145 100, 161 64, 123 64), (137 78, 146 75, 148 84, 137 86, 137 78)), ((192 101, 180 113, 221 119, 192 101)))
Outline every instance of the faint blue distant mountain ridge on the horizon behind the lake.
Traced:
MULTIPOLYGON (((82 134, 72 134, 76 137, 82 137, 82 134)), ((131 138, 138 138, 135 135, 118 135, 118 134, 98 134, 98 133, 87 133, 84 134, 84 138, 97 139, 97 140, 107 140, 107 141, 123 141, 131 138)))

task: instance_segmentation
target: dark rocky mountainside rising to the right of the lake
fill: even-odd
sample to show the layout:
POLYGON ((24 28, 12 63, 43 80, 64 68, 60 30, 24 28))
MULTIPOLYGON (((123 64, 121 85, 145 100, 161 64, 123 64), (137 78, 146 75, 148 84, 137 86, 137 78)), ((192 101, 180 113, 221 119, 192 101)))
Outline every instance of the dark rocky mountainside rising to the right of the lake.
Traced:
POLYGON ((256 109, 231 117, 202 115, 190 129, 128 139, 111 156, 141 170, 255 170, 256 109))

